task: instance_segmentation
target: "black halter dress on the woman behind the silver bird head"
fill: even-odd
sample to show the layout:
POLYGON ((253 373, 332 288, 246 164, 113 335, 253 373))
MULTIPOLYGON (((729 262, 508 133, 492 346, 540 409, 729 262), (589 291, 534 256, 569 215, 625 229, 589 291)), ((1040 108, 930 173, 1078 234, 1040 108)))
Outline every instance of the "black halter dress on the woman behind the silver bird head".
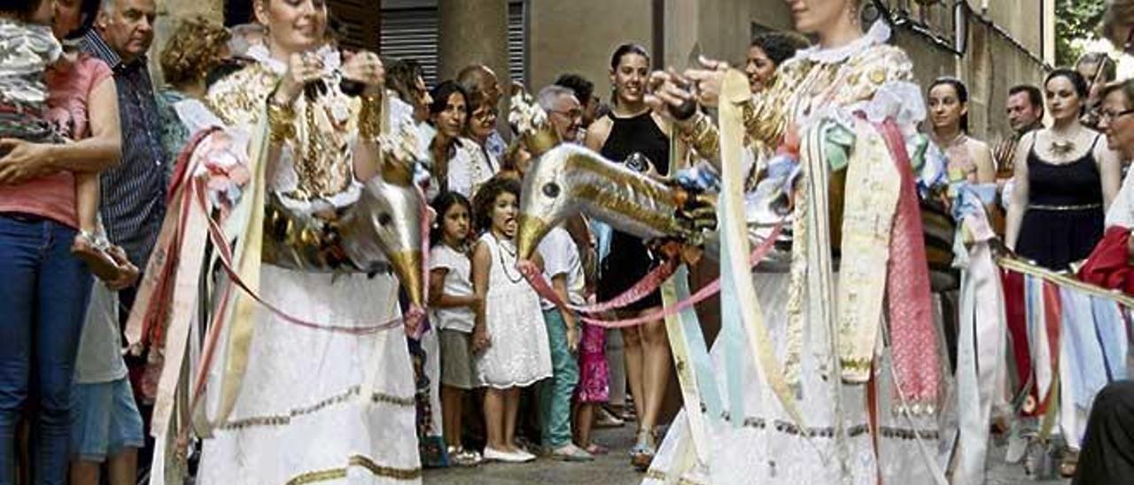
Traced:
MULTIPOLYGON (((602 145, 602 156, 623 163, 632 154, 641 153, 658 173, 669 171, 669 137, 658 128, 650 111, 633 118, 610 117, 613 127, 602 145)), ((610 253, 599 266, 598 298, 606 301, 645 276, 660 261, 655 259, 642 239, 621 231, 612 231, 610 253)), ((624 309, 642 310, 661 305, 661 293, 654 291, 624 309)))

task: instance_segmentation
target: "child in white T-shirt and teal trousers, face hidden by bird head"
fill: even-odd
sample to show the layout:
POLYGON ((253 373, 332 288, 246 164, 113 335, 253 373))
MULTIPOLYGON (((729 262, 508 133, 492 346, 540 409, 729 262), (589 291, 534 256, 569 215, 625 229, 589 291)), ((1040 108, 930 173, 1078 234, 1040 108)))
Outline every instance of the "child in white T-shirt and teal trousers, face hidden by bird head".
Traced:
MULTIPOLYGON (((565 301, 586 303, 583 264, 575 241, 562 227, 555 227, 540 242, 543 274, 565 301)), ((552 374, 540 389, 540 416, 543 423, 543 448, 551 457, 564 461, 591 461, 594 457, 572 443, 572 395, 578 383, 579 327, 574 313, 543 301, 543 322, 548 327, 552 374)))

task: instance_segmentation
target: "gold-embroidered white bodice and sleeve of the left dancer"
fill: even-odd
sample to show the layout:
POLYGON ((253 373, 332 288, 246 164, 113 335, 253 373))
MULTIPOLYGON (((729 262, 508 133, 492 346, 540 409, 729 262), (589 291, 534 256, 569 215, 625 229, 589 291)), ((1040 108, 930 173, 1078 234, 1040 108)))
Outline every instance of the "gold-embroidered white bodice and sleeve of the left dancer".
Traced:
MULTIPOLYGON (((264 116, 264 104, 280 76, 263 63, 254 63, 217 83, 209 92, 210 108, 229 126, 255 127, 264 116)), ((293 199, 311 201, 341 194, 354 181, 352 134, 361 103, 342 94, 331 79, 327 94, 295 101, 296 138, 280 155, 277 170, 294 172, 294 184, 278 188, 293 199)), ((289 173, 284 180, 290 180, 289 173)))

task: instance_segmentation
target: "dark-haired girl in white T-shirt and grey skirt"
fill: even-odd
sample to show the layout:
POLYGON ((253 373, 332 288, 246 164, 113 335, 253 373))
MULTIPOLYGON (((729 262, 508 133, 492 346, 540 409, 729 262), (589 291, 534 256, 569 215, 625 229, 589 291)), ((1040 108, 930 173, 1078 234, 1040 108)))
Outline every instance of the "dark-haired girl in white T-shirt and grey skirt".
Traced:
POLYGON ((465 392, 473 389, 472 332, 477 299, 473 293, 468 230, 472 206, 465 196, 441 193, 433 199, 439 221, 433 227, 429 259, 430 321, 441 350, 441 423, 449 458, 463 467, 481 462, 460 441, 465 392))

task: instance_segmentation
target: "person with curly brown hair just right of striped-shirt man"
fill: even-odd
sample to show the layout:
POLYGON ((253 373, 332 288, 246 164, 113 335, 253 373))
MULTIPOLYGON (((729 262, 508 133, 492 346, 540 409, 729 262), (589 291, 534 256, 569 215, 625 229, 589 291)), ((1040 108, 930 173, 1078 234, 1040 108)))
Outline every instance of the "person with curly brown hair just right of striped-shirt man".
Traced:
POLYGON ((159 63, 166 87, 158 92, 158 112, 161 143, 170 155, 180 153, 194 133, 223 125, 201 99, 211 75, 229 57, 230 39, 223 26, 195 17, 183 20, 162 49, 159 63))

